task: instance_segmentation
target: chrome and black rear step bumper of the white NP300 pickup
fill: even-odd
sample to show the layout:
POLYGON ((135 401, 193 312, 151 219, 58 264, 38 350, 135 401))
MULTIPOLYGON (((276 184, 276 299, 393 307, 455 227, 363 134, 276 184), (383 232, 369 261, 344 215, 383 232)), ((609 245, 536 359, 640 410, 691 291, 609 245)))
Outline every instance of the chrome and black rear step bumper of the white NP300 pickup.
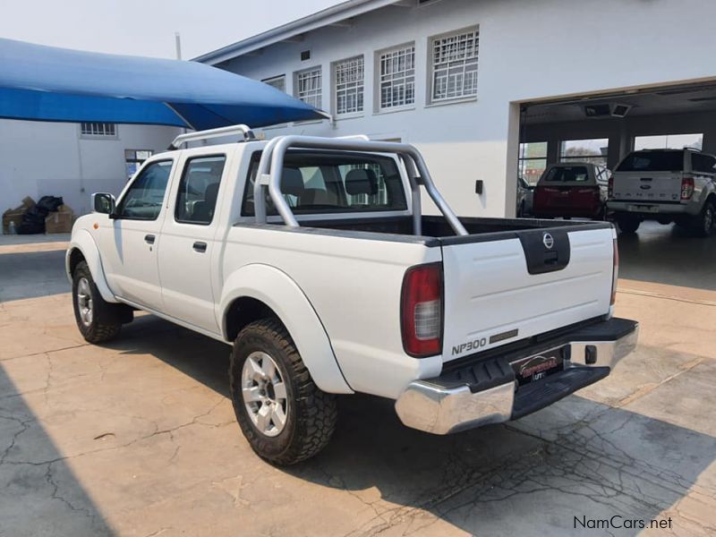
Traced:
POLYGON ((502 356, 467 362, 434 379, 411 382, 396 401, 400 420, 413 429, 447 434, 515 420, 603 379, 636 347, 639 325, 611 319, 502 356), (523 386, 511 362, 564 345, 564 370, 523 386))

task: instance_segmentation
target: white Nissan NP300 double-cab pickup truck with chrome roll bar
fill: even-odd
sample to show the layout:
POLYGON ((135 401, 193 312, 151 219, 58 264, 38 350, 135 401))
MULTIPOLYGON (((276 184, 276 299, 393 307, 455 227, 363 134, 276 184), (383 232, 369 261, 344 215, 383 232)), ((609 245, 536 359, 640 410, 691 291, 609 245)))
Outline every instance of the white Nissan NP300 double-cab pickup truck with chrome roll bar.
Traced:
POLYGON ((611 224, 458 218, 402 143, 242 126, 173 145, 229 132, 243 142, 155 155, 116 202, 94 194, 66 270, 91 343, 139 309, 232 344, 236 417, 268 461, 318 453, 337 394, 446 434, 550 405, 635 348, 612 317, 611 224))

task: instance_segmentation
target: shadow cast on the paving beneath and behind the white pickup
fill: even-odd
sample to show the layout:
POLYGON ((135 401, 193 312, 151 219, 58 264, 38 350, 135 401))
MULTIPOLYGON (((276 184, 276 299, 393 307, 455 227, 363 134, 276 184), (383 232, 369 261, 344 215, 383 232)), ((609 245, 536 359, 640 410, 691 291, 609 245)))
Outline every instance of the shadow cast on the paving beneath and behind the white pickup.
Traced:
MULTIPOLYGON (((153 354, 228 396, 227 345, 144 316, 110 346, 153 354)), ((339 405, 328 448, 282 471, 360 499, 370 516, 356 535, 441 522, 488 535, 571 534, 575 517, 648 524, 716 457, 712 436, 579 396, 519 422, 447 437, 405 428, 388 400, 344 396, 339 405)))

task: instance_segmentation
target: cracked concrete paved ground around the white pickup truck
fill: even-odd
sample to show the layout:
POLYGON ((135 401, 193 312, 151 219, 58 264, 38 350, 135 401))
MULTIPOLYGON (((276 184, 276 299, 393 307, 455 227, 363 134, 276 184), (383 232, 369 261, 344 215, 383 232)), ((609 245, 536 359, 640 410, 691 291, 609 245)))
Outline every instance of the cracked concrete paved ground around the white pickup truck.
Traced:
POLYGON ((641 345, 609 379, 449 437, 345 397, 328 449, 289 470, 234 423, 228 347, 150 316, 85 345, 64 237, 0 242, 0 535, 544 536, 615 515, 713 535, 716 237, 640 232, 618 314, 641 345))

